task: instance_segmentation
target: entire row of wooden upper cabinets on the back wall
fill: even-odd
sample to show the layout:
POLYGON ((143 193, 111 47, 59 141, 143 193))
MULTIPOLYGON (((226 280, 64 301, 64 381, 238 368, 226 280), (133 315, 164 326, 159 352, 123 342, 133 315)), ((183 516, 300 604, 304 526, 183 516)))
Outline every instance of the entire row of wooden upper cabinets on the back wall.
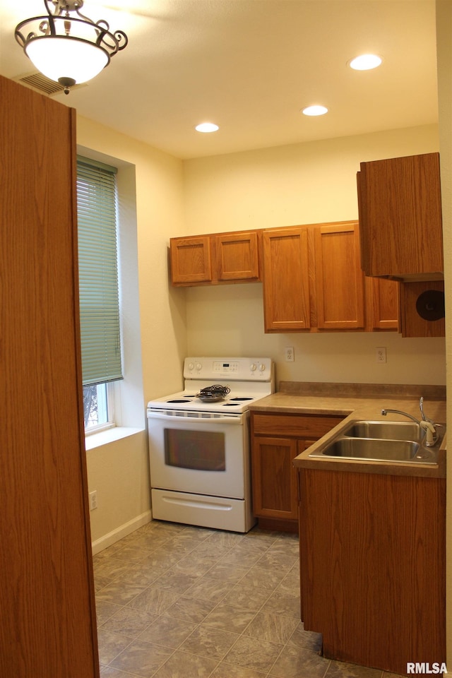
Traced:
POLYGON ((170 241, 179 287, 263 281, 266 332, 397 330, 395 280, 364 277, 357 221, 170 241))

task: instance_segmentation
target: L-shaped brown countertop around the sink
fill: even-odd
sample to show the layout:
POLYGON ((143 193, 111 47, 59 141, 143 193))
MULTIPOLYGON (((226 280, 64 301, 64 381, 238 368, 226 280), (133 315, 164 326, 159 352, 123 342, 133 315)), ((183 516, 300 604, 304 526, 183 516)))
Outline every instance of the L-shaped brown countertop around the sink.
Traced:
POLYGON ((384 475, 446 477, 446 436, 441 441, 437 463, 425 465, 409 462, 362 461, 338 457, 309 457, 309 454, 331 439, 346 420, 408 421, 407 417, 381 415, 382 408, 403 410, 420 419, 419 399, 424 396, 425 415, 434 422, 446 423, 446 388, 391 384, 340 384, 281 382, 280 391, 261 398, 250 406, 252 412, 274 412, 299 415, 338 415, 344 417, 328 434, 295 457, 297 468, 317 468, 384 475), (334 394, 334 395, 332 395, 334 394))

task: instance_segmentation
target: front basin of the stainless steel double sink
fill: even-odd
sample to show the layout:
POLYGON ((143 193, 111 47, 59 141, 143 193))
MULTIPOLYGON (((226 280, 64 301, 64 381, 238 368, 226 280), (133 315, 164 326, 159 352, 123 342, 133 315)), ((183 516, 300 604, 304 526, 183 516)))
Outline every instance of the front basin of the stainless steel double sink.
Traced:
POLYGON ((411 440, 338 438, 323 451, 323 454, 369 461, 411 461, 419 450, 420 444, 411 440))

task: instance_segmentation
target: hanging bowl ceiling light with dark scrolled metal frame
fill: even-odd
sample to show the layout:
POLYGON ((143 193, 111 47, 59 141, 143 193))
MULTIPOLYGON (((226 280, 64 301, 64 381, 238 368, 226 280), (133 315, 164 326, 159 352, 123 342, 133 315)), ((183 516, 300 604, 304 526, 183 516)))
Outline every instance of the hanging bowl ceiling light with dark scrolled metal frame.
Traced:
POLYGON ((21 21, 14 36, 38 71, 69 94, 73 85, 105 69, 110 58, 126 47, 127 36, 121 30, 111 32, 103 19, 95 23, 81 14, 83 0, 43 1, 47 16, 21 21))

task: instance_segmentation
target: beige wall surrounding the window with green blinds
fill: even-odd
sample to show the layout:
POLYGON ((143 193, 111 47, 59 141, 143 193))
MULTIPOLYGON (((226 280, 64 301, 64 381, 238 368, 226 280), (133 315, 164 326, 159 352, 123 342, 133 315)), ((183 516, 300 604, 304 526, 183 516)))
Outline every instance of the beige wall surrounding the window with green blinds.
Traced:
POLYGON ((136 184, 142 430, 100 446, 88 441, 88 489, 97 492, 91 537, 97 551, 150 519, 145 403, 182 386, 184 294, 169 287, 167 274, 169 237, 180 234, 183 225, 182 162, 81 117, 77 142, 104 159, 134 166, 136 184))

